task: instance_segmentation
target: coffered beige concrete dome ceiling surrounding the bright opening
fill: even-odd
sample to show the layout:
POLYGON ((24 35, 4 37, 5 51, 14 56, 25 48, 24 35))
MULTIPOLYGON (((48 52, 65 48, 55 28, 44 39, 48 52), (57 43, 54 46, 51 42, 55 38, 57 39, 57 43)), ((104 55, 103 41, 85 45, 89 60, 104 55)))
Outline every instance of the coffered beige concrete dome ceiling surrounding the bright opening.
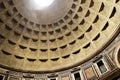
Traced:
POLYGON ((119 0, 55 0, 43 10, 31 5, 29 0, 0 0, 3 66, 53 71, 80 64, 119 31, 119 0))

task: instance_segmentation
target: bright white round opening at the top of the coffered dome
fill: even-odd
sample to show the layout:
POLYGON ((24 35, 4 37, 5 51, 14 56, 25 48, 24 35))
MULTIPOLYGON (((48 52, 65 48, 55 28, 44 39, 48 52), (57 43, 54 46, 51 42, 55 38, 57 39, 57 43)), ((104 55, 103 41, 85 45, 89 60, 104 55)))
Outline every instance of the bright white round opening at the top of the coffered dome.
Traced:
POLYGON ((54 0, 33 0, 35 3, 36 9, 44 9, 50 6, 54 0))

